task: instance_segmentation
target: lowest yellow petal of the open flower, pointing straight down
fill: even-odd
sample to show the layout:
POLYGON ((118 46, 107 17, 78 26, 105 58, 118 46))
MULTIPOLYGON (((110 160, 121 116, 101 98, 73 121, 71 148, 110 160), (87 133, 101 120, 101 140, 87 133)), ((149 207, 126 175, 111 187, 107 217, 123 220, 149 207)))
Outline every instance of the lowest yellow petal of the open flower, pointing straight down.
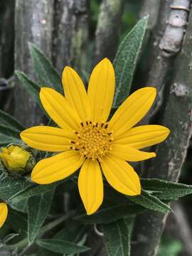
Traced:
POLYGON ((103 200, 102 173, 97 160, 87 159, 82 165, 78 188, 87 214, 95 213, 103 200))

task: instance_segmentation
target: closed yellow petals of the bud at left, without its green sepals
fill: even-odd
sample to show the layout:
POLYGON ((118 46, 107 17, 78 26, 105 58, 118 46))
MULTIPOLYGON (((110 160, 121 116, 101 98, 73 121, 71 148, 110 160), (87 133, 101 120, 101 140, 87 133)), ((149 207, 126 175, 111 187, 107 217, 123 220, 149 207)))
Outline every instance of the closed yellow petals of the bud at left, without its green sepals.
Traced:
POLYGON ((1 148, 0 159, 9 171, 20 171, 26 168, 30 153, 20 146, 1 148))

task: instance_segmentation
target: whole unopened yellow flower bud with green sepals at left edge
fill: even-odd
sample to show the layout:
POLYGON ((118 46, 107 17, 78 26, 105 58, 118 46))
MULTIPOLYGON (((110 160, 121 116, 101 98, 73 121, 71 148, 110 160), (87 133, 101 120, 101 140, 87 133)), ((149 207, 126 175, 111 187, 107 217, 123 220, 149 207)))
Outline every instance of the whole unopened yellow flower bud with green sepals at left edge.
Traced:
POLYGON ((1 166, 11 174, 27 174, 35 166, 33 154, 23 144, 9 144, 1 148, 1 166))

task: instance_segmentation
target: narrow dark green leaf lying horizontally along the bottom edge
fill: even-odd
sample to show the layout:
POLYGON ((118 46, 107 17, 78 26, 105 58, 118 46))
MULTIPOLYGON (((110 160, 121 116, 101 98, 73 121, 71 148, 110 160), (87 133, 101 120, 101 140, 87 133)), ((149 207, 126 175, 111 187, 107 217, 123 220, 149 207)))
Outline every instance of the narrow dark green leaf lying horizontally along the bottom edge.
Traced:
POLYGON ((36 243, 46 250, 58 253, 80 253, 90 250, 89 247, 76 245, 73 242, 67 242, 65 240, 58 239, 38 239, 36 243))

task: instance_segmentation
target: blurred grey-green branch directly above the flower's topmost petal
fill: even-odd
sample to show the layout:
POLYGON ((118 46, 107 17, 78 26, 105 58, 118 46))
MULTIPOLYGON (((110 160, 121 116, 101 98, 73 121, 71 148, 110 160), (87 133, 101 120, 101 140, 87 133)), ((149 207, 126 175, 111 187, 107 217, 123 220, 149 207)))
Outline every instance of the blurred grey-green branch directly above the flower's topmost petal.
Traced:
POLYGON ((97 21, 94 64, 102 58, 114 59, 119 43, 119 27, 124 0, 102 0, 97 21))

